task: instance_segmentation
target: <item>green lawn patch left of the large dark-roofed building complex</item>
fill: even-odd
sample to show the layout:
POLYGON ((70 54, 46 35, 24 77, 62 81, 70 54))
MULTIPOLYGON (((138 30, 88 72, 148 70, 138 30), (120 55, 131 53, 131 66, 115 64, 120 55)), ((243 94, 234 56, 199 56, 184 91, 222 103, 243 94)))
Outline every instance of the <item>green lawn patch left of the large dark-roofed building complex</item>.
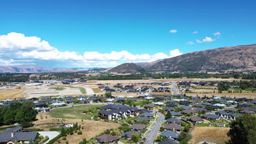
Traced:
POLYGON ((73 107, 65 107, 60 109, 54 109, 49 113, 53 118, 73 118, 73 119, 91 119, 93 116, 97 116, 98 113, 84 114, 84 110, 97 109, 104 105, 79 105, 73 107))

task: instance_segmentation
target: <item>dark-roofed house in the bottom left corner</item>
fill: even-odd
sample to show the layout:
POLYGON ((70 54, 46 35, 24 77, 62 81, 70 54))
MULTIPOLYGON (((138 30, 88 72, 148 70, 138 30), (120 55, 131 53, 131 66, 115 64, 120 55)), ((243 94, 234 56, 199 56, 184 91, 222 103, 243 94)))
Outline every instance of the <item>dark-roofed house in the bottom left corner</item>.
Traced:
POLYGON ((17 126, 14 128, 8 128, 4 133, 0 133, 0 143, 14 144, 15 141, 20 143, 28 143, 30 140, 36 140, 37 132, 24 132, 22 127, 17 126))

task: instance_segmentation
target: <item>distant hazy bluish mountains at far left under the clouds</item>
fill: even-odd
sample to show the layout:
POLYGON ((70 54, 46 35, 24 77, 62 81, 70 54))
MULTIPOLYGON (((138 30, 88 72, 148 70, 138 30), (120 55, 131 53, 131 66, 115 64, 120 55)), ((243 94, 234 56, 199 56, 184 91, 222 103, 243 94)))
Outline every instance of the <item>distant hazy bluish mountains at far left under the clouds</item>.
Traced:
POLYGON ((0 73, 45 73, 63 71, 62 68, 46 68, 38 65, 0 66, 0 73))

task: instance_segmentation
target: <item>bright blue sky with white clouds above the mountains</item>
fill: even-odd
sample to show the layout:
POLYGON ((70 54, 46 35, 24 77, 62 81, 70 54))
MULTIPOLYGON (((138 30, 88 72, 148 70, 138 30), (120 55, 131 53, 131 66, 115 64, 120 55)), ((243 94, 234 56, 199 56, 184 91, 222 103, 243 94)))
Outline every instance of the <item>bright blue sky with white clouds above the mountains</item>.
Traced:
POLYGON ((114 67, 255 44, 255 4, 246 0, 4 1, 0 2, 0 65, 114 67), (171 33, 174 29, 177 32, 171 33))

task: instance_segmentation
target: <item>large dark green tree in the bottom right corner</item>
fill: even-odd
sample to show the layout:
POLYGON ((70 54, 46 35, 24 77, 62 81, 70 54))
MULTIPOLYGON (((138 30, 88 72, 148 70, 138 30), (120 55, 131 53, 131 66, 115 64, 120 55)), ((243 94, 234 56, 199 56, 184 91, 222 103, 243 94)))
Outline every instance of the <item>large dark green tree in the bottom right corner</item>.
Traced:
POLYGON ((251 144, 256 141, 256 116, 243 115, 230 122, 229 143, 251 144))

